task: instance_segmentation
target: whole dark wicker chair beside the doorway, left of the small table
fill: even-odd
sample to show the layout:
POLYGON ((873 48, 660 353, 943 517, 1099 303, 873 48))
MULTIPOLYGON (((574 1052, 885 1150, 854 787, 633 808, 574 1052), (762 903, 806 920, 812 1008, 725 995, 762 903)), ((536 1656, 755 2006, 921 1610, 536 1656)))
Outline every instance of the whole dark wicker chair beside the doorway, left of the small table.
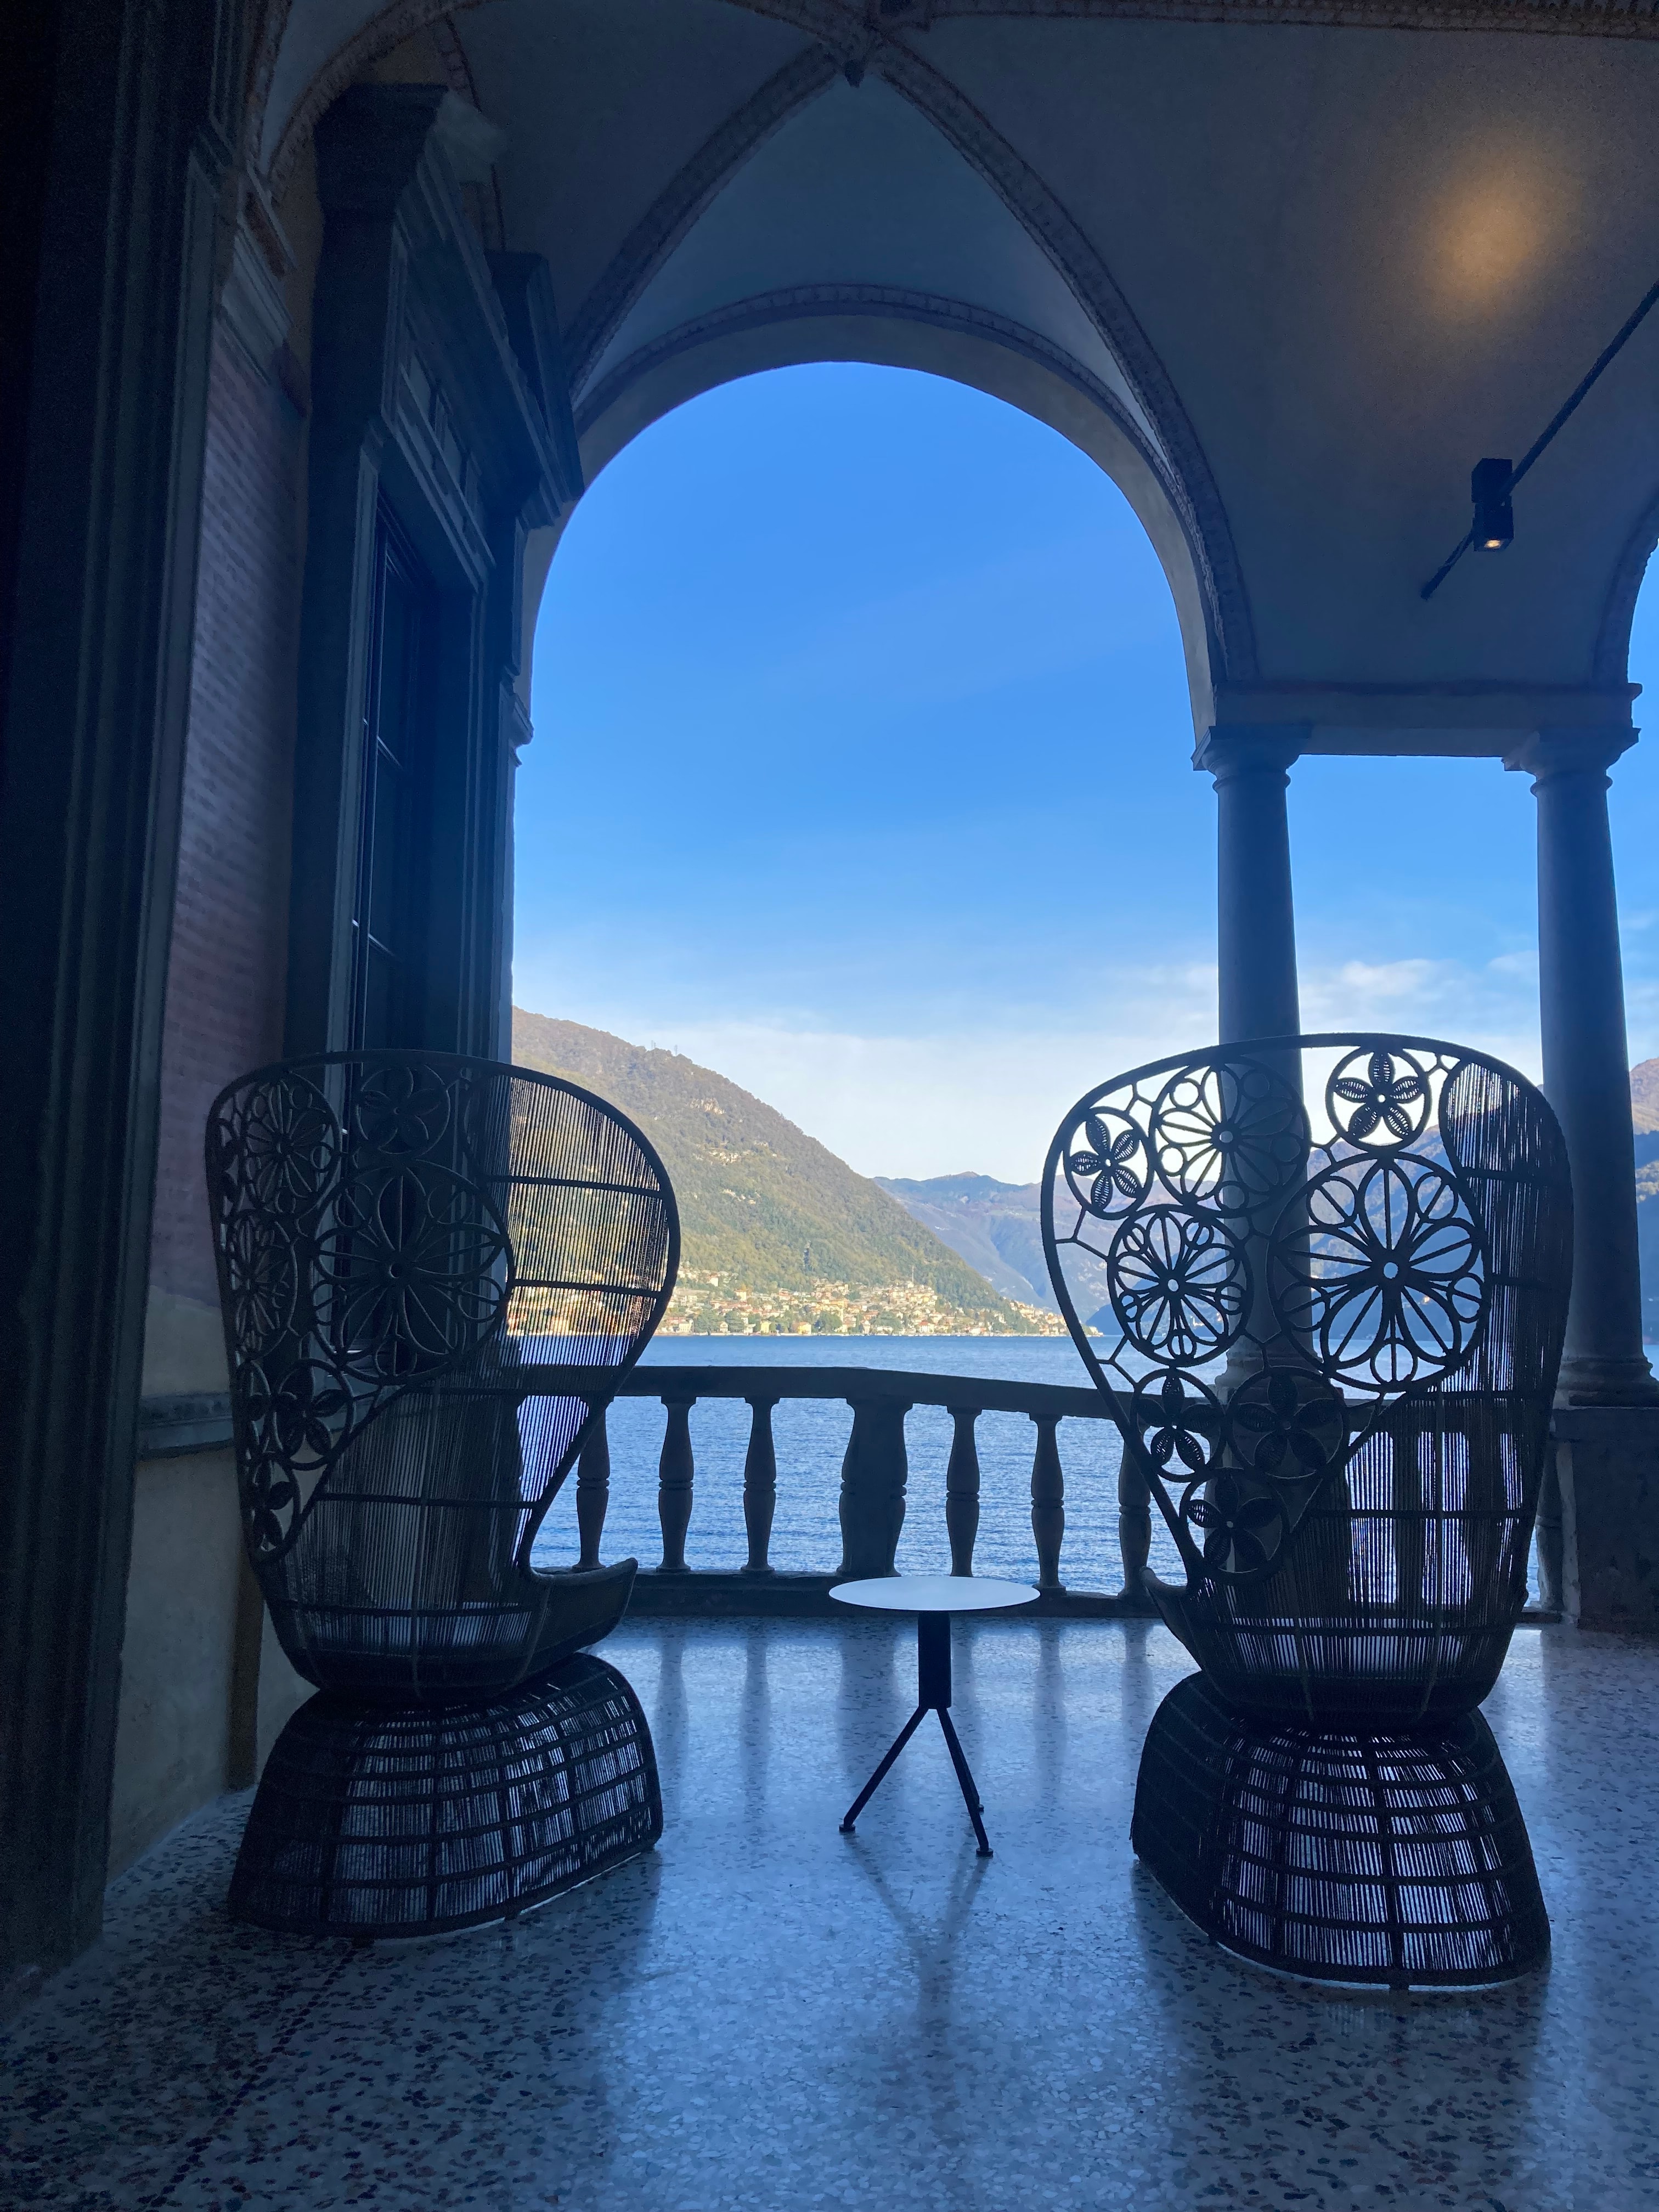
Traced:
POLYGON ((639 1358, 675 1283, 650 1144, 551 1075, 327 1053, 215 1099, 208 1194, 248 1557, 319 1688, 232 1916, 425 1936, 650 1849, 644 1714, 584 1652, 635 1562, 531 1568, 595 1369, 639 1358))

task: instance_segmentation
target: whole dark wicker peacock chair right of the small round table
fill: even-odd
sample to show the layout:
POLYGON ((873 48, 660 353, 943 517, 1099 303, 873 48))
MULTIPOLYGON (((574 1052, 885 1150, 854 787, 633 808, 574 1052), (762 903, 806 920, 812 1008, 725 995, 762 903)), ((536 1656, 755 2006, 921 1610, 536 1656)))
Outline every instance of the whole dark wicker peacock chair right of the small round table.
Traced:
POLYGON ((1540 1964, 1475 1708, 1526 1601, 1566 1325, 1542 1095, 1425 1037, 1161 1060, 1066 1115, 1042 1232, 1188 1577, 1148 1577, 1201 1674, 1148 1732, 1135 1851, 1270 1966, 1460 1986, 1540 1964))

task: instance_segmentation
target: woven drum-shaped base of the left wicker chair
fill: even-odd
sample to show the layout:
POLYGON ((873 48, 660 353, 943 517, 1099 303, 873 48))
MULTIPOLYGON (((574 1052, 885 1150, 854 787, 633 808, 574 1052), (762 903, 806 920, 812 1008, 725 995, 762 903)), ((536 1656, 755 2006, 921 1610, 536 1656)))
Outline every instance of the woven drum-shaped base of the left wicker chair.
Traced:
POLYGON ((661 1836, 650 1730, 577 1655, 482 1705, 321 1692, 272 1745, 230 1918, 330 1936, 509 1920, 661 1836))

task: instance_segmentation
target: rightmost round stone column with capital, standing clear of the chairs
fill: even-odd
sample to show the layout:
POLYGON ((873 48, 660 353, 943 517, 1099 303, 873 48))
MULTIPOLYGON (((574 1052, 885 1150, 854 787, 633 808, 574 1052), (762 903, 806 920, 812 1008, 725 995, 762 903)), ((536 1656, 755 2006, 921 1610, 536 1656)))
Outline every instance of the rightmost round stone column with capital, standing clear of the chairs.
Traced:
POLYGON ((1573 1303, 1559 1400, 1659 1398, 1641 1354, 1630 1057, 1613 891, 1608 768, 1635 730, 1540 730, 1506 757, 1537 796, 1537 998, 1544 1095, 1573 1168, 1573 1303))

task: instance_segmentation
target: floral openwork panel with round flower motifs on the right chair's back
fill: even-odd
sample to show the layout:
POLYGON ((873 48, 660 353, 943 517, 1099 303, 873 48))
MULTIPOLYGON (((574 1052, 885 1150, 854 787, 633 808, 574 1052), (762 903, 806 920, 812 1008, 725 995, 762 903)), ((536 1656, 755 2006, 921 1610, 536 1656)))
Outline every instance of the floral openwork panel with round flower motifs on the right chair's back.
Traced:
POLYGON ((1190 1577, 1272 1575, 1400 1398, 1480 1380, 1493 1237, 1533 1186, 1566 1190, 1537 1093, 1420 1037, 1214 1048, 1077 1102, 1044 1170, 1048 1267, 1190 1577))

